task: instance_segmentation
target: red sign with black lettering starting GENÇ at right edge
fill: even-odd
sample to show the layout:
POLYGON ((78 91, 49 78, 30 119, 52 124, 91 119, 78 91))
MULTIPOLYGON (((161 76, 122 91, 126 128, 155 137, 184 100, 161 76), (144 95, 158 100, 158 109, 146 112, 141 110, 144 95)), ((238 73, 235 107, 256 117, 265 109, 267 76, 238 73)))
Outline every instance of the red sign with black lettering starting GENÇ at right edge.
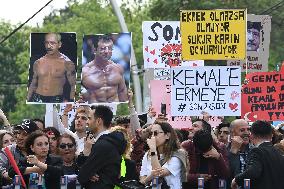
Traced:
POLYGON ((242 117, 248 121, 284 120, 284 69, 246 76, 242 89, 242 117))

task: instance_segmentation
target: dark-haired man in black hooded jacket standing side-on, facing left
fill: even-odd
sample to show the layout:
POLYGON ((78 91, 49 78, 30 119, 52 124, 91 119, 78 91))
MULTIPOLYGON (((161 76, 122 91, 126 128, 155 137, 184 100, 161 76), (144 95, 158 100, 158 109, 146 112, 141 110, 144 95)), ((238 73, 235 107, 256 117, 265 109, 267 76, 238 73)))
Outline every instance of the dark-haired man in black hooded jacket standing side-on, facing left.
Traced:
MULTIPOLYGON (((91 153, 80 167, 78 180, 86 189, 113 189, 118 184, 121 167, 121 155, 126 148, 123 133, 111 132, 113 113, 107 106, 92 107, 88 119, 90 131, 96 136, 91 153)), ((78 163, 85 158, 84 152, 78 157, 78 163)))

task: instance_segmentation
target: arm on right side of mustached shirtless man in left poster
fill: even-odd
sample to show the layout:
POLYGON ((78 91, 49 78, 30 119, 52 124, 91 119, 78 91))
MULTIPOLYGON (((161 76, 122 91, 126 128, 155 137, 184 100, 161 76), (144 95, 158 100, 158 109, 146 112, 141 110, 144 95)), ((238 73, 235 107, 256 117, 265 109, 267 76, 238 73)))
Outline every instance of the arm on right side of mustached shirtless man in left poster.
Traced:
MULTIPOLYGON (((76 85, 76 69, 75 64, 71 61, 66 62, 66 77, 71 86, 70 99, 74 100, 75 97, 75 85, 76 85)), ((69 99, 68 99, 69 100, 69 99)))

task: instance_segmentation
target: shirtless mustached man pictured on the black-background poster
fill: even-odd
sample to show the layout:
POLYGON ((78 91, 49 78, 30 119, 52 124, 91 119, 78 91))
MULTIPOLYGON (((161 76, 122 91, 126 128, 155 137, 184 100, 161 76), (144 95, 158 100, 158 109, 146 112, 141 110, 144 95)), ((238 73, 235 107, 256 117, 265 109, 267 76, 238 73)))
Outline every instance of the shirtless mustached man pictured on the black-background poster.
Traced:
POLYGON ((45 35, 46 55, 33 64, 33 77, 28 89, 28 102, 61 103, 74 101, 76 71, 75 64, 61 48, 61 36, 57 33, 45 35), (64 85, 68 80, 70 94, 65 94, 64 85))

